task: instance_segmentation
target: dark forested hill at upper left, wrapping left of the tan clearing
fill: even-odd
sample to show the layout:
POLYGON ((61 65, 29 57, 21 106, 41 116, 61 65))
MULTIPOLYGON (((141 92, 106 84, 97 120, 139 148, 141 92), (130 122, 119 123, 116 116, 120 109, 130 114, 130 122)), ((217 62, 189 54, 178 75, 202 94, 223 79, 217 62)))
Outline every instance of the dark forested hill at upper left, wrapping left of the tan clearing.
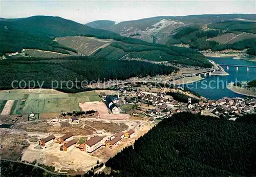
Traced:
POLYGON ((54 41, 55 37, 101 35, 118 37, 114 32, 84 26, 75 21, 53 16, 0 19, 0 56, 22 49, 40 49, 69 54, 76 52, 54 41))

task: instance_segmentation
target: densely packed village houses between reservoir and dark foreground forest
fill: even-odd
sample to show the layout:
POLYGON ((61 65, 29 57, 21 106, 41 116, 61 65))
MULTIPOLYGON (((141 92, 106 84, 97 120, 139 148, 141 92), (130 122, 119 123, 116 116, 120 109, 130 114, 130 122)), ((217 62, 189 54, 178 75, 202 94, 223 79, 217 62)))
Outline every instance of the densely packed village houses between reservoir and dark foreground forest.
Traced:
MULTIPOLYGON (((135 104, 136 109, 131 113, 133 116, 148 117, 150 120, 156 120, 164 117, 170 117, 175 113, 190 112, 193 114, 209 114, 211 116, 224 118, 232 118, 233 120, 245 114, 256 113, 256 99, 255 98, 228 98, 223 97, 219 100, 209 100, 199 98, 196 96, 187 96, 187 102, 180 102, 175 100, 172 96, 166 95, 166 92, 153 91, 152 84, 146 84, 143 87, 133 87, 132 84, 122 85, 119 95, 113 97, 111 106, 113 113, 119 113, 120 108, 115 106, 118 99, 126 104, 135 104), (149 89, 149 90, 148 90, 149 89), (153 92, 152 92, 153 91, 153 92), (196 98, 196 101, 193 100, 196 98), (234 117, 234 118, 233 118, 234 117)), ((182 91, 181 87, 174 89, 177 93, 186 92, 182 91), (180 91, 180 92, 179 92, 180 91)), ((160 90, 161 91, 161 90, 160 90)), ((101 97, 105 98, 104 93, 101 97)), ((106 102, 110 102, 110 98, 106 102)))

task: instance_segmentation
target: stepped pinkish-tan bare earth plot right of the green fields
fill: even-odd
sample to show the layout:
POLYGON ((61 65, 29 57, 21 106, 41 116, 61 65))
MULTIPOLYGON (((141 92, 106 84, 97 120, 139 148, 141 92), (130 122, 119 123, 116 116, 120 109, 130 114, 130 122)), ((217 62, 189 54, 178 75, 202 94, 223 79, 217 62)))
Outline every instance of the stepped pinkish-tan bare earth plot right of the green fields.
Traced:
POLYGON ((129 114, 110 114, 108 107, 99 101, 79 103, 79 107, 82 111, 97 110, 100 119, 128 120, 130 118, 129 114))

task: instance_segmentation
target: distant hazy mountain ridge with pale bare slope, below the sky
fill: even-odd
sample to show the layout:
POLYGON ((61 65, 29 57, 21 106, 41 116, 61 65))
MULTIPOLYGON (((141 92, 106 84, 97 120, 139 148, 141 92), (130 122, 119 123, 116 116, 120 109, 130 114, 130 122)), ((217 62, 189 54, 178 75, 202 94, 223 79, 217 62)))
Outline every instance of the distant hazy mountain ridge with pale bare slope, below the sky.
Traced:
MULTIPOLYGON (((113 31, 122 36, 130 36, 139 33, 141 34, 141 36, 134 37, 148 42, 153 42, 155 40, 158 43, 164 44, 167 42, 167 37, 169 36, 169 34, 179 29, 180 27, 201 23, 216 23, 222 20, 239 19, 255 20, 256 14, 206 14, 187 16, 158 16, 138 20, 122 21, 112 26, 100 25, 100 29, 113 31), (161 29, 155 28, 155 26, 159 24, 161 29)), ((97 24, 97 21, 93 21, 91 23, 97 24)), ((94 27, 96 28, 97 26, 95 25, 94 27)))

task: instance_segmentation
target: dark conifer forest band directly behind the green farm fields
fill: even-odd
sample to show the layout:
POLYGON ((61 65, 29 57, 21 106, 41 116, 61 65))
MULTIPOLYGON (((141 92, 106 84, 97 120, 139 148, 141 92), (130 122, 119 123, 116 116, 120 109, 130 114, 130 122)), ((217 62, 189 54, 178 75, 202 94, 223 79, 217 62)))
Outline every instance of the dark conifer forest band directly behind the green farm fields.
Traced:
MULTIPOLYGON (((163 64, 153 64, 143 61, 110 61, 97 57, 65 57, 65 58, 8 58, 0 60, 0 89, 11 89, 12 81, 24 80, 27 85, 29 80, 36 82, 36 87, 44 81, 44 88, 51 88, 52 81, 56 89, 64 92, 84 91, 81 88, 81 81, 84 84, 91 81, 124 80, 131 77, 145 77, 156 75, 168 75, 178 69, 163 64), (78 80, 80 89, 75 88, 75 80, 78 80), (67 81, 72 81, 68 84, 67 81), (66 81, 60 87, 60 82, 66 81), (68 89, 72 87, 72 89, 68 89)), ((14 87, 20 85, 15 82, 14 87)), ((22 84, 24 87, 24 82, 22 84)))

